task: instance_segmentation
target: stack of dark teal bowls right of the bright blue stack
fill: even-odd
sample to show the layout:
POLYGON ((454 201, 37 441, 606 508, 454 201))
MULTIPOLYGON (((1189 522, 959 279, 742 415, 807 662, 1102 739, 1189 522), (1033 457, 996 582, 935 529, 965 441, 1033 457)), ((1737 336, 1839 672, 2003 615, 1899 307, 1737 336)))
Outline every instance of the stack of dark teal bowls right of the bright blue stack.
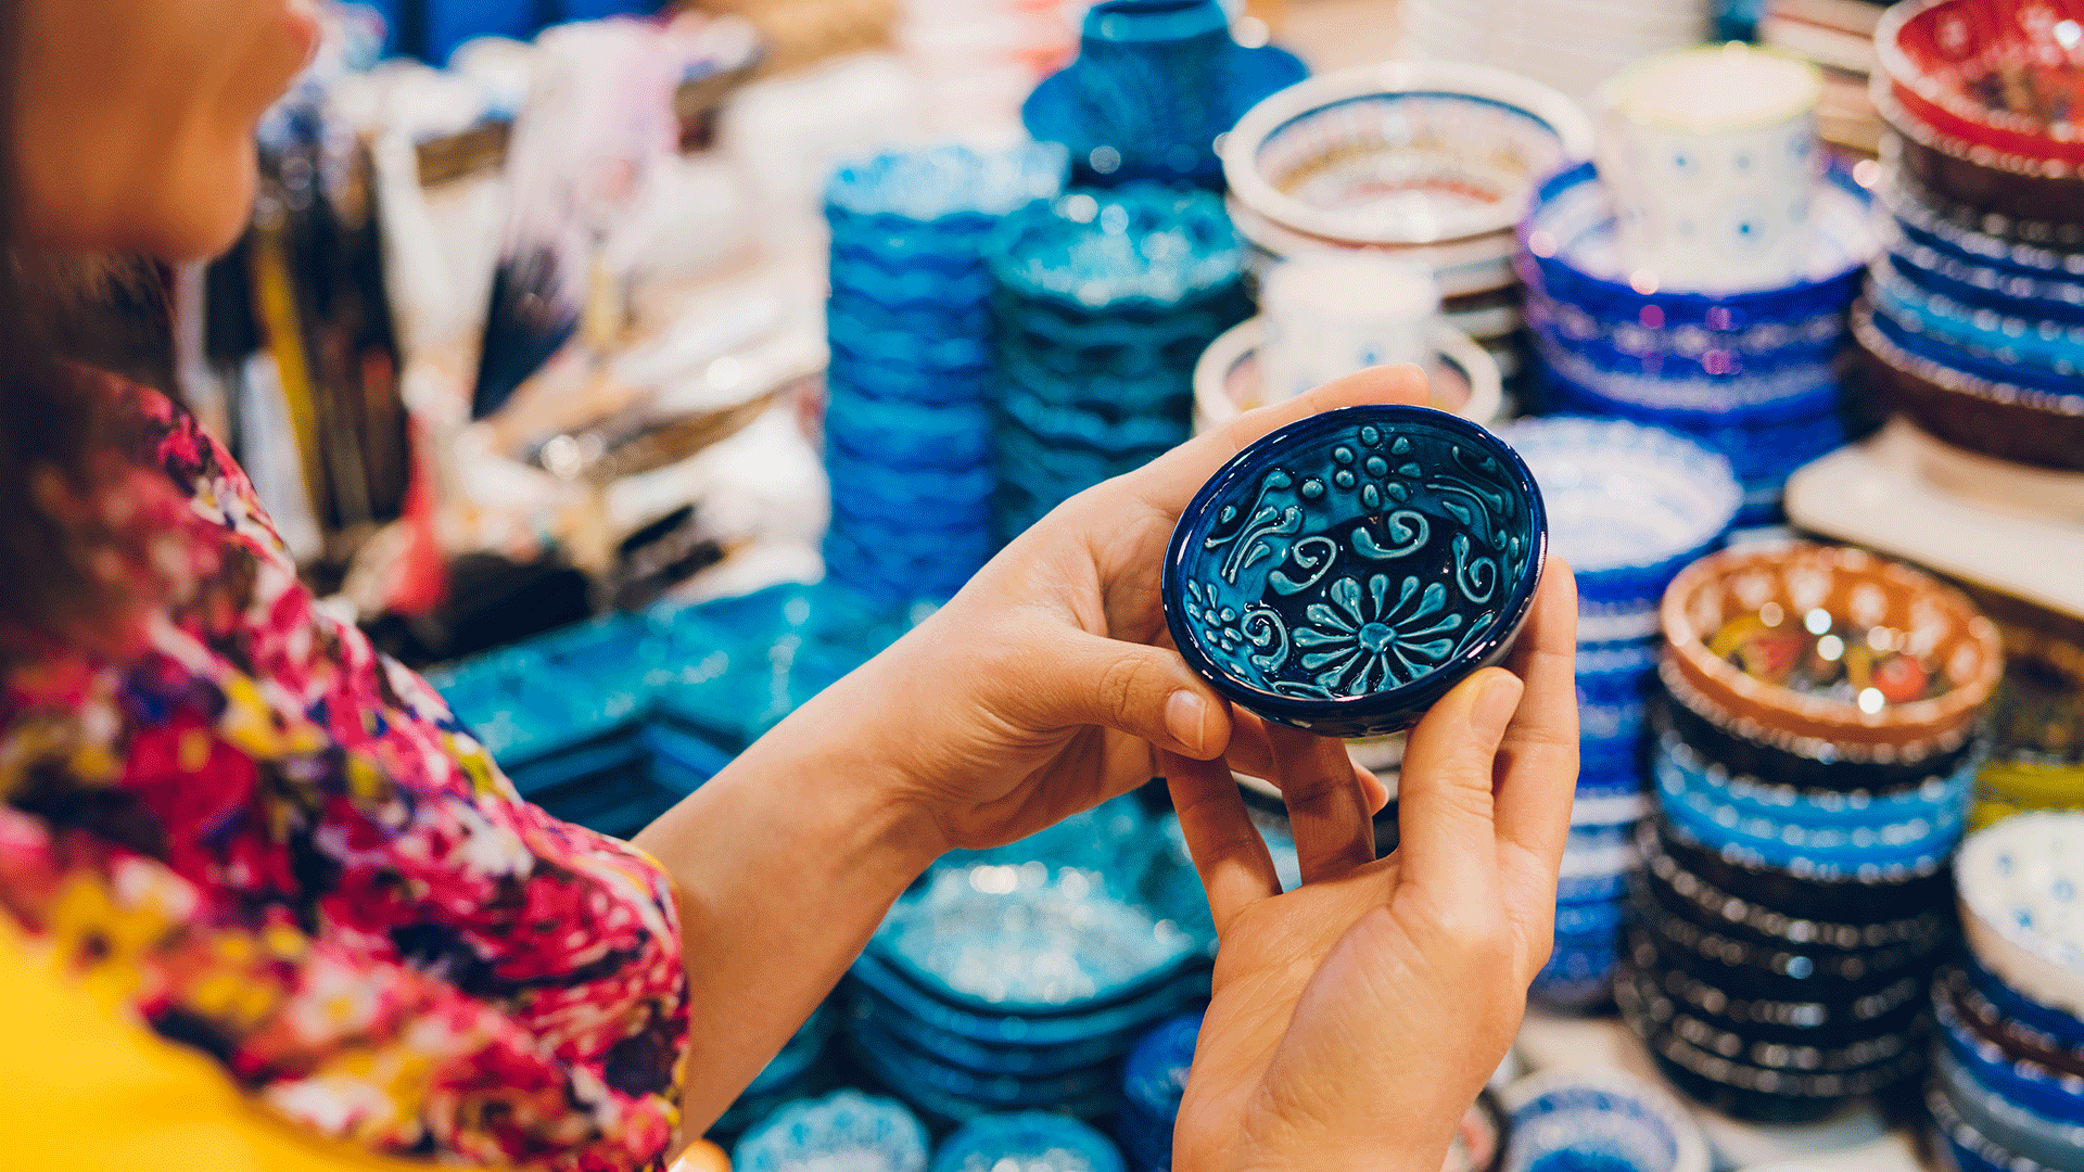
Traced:
POLYGON ((998 371, 998 536, 1188 438, 1194 363, 1250 313, 1209 192, 1071 192, 986 250, 998 371))

